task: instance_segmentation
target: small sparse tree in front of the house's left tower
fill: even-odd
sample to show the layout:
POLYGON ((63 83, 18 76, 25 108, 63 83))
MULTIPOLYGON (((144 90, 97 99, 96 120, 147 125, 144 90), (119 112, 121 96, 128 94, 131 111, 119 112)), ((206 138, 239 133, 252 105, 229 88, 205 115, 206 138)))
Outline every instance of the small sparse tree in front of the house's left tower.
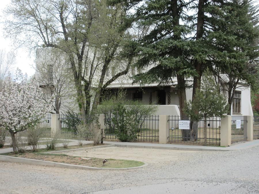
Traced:
POLYGON ((54 48, 38 49, 35 70, 39 87, 45 90, 42 100, 47 101, 54 96, 52 110, 60 114, 60 108, 67 109, 68 99, 75 96, 72 71, 66 55, 54 48))

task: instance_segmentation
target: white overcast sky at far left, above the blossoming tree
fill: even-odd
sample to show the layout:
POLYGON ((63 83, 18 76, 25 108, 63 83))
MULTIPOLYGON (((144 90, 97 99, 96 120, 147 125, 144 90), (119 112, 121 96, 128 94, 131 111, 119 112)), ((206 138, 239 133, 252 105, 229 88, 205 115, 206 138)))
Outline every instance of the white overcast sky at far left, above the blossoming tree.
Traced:
MULTIPOLYGON (((11 2, 11 0, 0 1, 0 13, 2 15, 3 9, 11 2)), ((5 49, 7 52, 12 50, 12 40, 5 38, 3 35, 3 24, 0 23, 0 49, 5 49)), ((16 61, 12 68, 12 71, 15 71, 17 68, 22 70, 28 76, 32 76, 35 73, 35 70, 32 68, 34 63, 34 57, 30 57, 27 49, 19 48, 15 50, 16 52, 16 61)))

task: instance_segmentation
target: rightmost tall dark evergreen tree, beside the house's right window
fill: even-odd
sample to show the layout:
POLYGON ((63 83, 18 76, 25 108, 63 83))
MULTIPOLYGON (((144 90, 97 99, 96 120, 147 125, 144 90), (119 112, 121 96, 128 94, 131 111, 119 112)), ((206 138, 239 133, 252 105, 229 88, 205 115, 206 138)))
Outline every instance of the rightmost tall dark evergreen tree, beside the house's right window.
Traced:
MULTIPOLYGON (((258 6, 250 0, 222 1, 206 8, 209 59, 216 81, 228 98, 228 115, 239 83, 250 86, 258 80, 258 6)), ((258 82, 258 81, 257 81, 258 82)))

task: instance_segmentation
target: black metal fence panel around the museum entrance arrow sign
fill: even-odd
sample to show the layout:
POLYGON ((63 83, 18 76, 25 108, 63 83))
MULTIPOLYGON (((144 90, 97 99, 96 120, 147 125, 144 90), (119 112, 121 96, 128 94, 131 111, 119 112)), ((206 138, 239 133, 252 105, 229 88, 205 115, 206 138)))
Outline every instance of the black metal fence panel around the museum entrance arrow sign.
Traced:
MULTIPOLYGON (((179 144, 203 144, 204 143, 204 124, 205 120, 199 120, 193 130, 179 129, 180 116, 168 116, 170 143, 179 144)), ((191 127, 190 127, 191 128, 191 127)), ((220 145, 220 117, 210 117, 206 120, 207 144, 220 145)))

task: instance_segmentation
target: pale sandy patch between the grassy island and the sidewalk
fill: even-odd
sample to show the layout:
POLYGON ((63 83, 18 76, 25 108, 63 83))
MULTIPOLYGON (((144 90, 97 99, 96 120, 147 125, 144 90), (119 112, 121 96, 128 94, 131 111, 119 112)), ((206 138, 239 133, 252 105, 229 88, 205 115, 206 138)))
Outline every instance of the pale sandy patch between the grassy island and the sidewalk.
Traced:
POLYGON ((177 160, 188 160, 188 153, 195 151, 163 150, 132 147, 105 147, 93 148, 80 151, 61 152, 71 156, 95 157, 104 159, 136 160, 150 164, 161 162, 174 162, 177 160), (186 157, 187 156, 187 157, 186 157))

